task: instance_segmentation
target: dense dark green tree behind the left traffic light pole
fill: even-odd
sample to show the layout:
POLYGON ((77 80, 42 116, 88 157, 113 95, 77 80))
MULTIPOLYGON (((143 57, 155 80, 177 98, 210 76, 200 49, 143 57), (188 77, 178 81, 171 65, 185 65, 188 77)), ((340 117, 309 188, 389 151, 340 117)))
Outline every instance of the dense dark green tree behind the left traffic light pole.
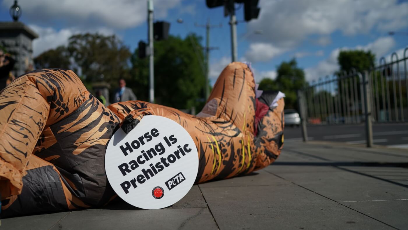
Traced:
MULTIPOLYGON (((189 34, 186 38, 169 36, 154 44, 155 103, 187 109, 192 106, 200 111, 204 105, 205 78, 200 67, 204 63, 200 37, 189 34)), ((137 57, 136 49, 131 57, 131 78, 127 84, 141 100, 149 98, 149 58, 137 57)))

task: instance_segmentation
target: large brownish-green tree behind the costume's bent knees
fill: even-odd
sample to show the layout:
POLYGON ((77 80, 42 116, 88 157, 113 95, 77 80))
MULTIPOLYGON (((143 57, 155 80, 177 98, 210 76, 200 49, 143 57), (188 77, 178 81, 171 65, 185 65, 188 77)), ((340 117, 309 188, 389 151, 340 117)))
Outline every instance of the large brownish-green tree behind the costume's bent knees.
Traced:
POLYGON ((81 67, 86 81, 101 80, 114 83, 129 74, 129 48, 115 35, 98 33, 75 34, 68 40, 68 51, 81 67))

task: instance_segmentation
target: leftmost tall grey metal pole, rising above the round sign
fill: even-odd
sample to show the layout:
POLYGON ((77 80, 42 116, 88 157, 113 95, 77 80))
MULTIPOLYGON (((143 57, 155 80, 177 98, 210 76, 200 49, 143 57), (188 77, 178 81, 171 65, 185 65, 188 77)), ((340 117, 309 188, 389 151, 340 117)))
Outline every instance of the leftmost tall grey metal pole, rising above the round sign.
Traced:
POLYGON ((148 39, 149 39, 149 102, 154 103, 154 49, 153 49, 153 0, 147 0, 148 39))

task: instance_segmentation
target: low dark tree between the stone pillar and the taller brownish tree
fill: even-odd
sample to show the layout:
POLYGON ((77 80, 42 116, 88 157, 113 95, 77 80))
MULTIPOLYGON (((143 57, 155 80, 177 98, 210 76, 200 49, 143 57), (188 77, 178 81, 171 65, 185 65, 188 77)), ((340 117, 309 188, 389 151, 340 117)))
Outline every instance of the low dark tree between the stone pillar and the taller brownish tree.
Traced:
POLYGON ((36 69, 44 68, 62 68, 69 69, 69 52, 66 47, 59 46, 55 49, 50 49, 43 52, 34 58, 36 69))

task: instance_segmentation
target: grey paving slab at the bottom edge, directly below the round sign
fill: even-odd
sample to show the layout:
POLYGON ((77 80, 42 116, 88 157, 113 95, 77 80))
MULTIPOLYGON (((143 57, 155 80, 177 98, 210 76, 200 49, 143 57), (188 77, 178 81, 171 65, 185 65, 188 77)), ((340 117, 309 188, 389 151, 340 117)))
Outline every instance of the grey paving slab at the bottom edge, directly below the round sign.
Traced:
POLYGON ((217 229, 208 208, 73 211, 52 230, 217 229))

